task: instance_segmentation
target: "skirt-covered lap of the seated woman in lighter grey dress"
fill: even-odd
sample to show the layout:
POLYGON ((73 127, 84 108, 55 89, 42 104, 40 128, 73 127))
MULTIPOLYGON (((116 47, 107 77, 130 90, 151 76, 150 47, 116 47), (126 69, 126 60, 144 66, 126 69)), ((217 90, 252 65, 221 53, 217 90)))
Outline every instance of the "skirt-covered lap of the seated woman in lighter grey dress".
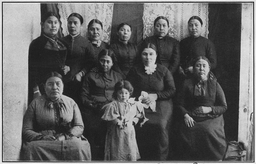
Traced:
MULTIPOLYGON (((83 138, 85 139, 85 138, 83 138)), ((78 161, 91 160, 90 144, 81 137, 64 141, 31 141, 22 145, 23 160, 78 161)))

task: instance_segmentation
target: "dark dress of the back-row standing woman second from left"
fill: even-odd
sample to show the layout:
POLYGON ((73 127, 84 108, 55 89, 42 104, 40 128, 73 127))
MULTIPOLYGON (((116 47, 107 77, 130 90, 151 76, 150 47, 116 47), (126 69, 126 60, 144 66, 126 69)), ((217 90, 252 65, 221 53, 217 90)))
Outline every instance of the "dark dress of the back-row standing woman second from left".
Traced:
POLYGON ((69 66, 70 71, 64 77, 63 94, 73 98, 79 104, 79 93, 81 91, 81 82, 73 82, 74 76, 82 71, 86 74, 92 68, 93 48, 89 40, 80 34, 72 37, 64 37, 68 45, 68 55, 65 64, 69 66))

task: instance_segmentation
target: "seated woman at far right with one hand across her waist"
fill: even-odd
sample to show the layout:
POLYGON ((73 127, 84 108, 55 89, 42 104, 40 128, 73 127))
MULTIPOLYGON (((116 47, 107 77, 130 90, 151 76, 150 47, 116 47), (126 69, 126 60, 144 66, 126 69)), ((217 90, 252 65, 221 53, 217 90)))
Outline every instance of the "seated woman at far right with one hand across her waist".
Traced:
POLYGON ((227 110, 225 95, 220 84, 209 78, 206 57, 196 58, 193 70, 194 78, 184 81, 177 96, 184 160, 222 160, 227 146, 222 116, 227 110))

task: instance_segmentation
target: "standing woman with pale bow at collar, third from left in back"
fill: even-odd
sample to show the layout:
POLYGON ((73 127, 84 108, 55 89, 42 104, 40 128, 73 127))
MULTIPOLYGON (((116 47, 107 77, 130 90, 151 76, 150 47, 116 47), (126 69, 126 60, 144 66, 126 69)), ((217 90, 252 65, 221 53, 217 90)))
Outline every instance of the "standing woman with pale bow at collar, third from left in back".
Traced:
POLYGON ((93 67, 98 63, 98 56, 101 50, 108 48, 108 43, 101 40, 103 33, 103 25, 100 20, 93 19, 88 24, 88 38, 92 42, 94 50, 92 59, 93 67))

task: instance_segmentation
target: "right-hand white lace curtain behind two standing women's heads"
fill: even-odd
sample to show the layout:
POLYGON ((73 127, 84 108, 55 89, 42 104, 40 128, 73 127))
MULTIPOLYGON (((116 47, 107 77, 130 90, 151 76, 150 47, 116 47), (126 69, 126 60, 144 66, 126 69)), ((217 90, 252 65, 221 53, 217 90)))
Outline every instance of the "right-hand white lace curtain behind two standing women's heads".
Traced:
POLYGON ((144 3, 144 34, 145 39, 154 35, 154 20, 165 16, 169 20, 168 35, 181 40, 189 36, 188 20, 199 16, 203 20, 202 36, 208 35, 208 4, 207 3, 144 3))

